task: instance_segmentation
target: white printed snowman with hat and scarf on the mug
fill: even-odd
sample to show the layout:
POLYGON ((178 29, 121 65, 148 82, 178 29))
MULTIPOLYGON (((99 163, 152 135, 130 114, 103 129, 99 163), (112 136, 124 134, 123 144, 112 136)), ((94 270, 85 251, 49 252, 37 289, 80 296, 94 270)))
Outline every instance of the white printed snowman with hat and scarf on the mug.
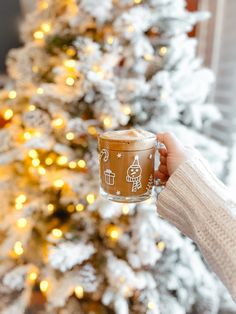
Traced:
POLYGON ((126 175, 126 181, 132 182, 132 192, 137 192, 137 190, 141 189, 142 187, 141 177, 142 177, 142 168, 139 164, 139 156, 136 155, 134 157, 133 163, 127 169, 127 175, 126 175))

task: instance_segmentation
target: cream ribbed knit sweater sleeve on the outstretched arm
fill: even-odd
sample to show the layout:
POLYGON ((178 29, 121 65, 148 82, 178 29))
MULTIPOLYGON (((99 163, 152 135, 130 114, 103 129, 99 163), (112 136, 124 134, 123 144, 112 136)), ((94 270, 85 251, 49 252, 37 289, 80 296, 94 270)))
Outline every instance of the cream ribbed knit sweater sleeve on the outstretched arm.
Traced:
POLYGON ((180 165, 158 197, 159 214, 198 245, 236 300, 236 201, 207 162, 180 165))

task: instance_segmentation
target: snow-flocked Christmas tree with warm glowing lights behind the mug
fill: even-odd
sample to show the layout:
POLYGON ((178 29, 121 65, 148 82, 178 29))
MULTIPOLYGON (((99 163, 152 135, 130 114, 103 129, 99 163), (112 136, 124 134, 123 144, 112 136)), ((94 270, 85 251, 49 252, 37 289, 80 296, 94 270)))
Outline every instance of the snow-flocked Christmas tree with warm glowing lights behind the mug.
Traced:
POLYGON ((213 76, 187 36, 206 17, 182 0, 37 2, 0 93, 1 313, 236 313, 155 198, 98 193, 108 129, 173 130, 220 174, 213 76))

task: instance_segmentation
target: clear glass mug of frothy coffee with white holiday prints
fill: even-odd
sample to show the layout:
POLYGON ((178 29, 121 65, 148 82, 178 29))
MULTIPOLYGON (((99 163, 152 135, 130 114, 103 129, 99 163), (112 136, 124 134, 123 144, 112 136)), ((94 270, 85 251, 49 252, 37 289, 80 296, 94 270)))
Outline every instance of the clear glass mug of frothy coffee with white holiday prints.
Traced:
POLYGON ((148 199, 154 186, 157 148, 156 136, 143 130, 100 134, 100 194, 108 200, 122 203, 148 199))

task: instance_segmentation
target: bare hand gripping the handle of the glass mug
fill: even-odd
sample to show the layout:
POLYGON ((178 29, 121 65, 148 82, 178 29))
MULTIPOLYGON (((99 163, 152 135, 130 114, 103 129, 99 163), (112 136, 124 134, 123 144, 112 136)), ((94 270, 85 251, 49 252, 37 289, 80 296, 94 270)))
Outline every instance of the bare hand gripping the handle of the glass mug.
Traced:
POLYGON ((156 172, 156 177, 164 183, 184 161, 195 154, 195 151, 185 147, 172 133, 159 133, 157 140, 165 145, 165 148, 159 149, 160 165, 156 172))

